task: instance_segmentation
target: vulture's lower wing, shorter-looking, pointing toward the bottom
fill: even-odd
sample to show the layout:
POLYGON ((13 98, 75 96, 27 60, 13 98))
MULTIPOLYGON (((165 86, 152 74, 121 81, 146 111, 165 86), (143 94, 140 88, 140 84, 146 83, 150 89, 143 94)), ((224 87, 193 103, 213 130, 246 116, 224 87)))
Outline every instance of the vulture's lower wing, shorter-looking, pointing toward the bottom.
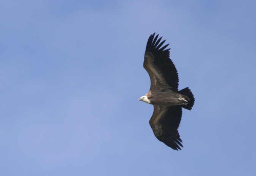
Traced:
POLYGON ((158 140, 171 147, 173 150, 181 150, 181 138, 178 128, 182 116, 181 106, 157 106, 149 124, 158 140))

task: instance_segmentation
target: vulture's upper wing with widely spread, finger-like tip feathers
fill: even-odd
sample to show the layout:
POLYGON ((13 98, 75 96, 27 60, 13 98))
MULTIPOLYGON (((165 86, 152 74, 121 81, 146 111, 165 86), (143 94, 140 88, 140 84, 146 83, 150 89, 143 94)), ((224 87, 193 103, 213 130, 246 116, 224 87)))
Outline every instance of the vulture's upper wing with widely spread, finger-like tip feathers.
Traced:
POLYGON ((174 92, 177 92, 179 85, 178 73, 170 59, 170 48, 164 50, 169 44, 162 47, 165 40, 160 43, 162 37, 157 40, 159 34, 155 38, 154 36, 155 33, 148 39, 143 63, 143 67, 150 76, 150 89, 156 85, 164 84, 170 86, 174 92))

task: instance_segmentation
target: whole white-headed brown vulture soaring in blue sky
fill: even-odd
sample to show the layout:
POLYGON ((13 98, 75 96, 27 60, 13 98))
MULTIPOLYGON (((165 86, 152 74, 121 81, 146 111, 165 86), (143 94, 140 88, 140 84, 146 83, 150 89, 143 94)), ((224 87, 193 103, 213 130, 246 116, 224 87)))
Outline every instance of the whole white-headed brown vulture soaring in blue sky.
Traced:
POLYGON ((173 150, 181 150, 183 146, 178 128, 182 107, 191 110, 195 98, 188 87, 178 91, 178 73, 170 59, 170 48, 165 50, 169 44, 162 47, 165 40, 160 42, 162 37, 157 40, 159 34, 154 36, 155 33, 148 39, 143 63, 151 86, 149 92, 139 100, 154 106, 149 124, 155 137, 173 150))

